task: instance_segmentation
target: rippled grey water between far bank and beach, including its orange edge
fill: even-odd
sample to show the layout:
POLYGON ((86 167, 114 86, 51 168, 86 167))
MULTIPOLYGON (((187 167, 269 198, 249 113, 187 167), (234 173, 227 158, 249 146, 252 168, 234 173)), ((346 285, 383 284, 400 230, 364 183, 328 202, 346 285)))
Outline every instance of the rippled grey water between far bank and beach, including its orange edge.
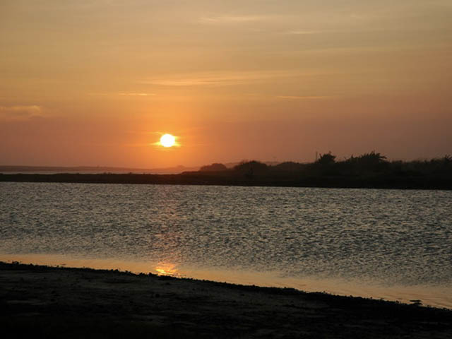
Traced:
POLYGON ((452 308, 452 192, 0 183, 0 260, 452 308))

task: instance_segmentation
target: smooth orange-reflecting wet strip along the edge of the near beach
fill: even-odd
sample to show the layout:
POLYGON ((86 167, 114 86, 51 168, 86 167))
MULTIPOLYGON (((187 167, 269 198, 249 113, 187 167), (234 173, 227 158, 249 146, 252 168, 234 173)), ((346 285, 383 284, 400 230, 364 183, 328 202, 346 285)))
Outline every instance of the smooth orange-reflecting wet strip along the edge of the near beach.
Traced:
POLYGON ((123 270, 132 273, 172 275, 177 278, 220 281, 238 285, 263 287, 292 287, 305 292, 327 292, 333 295, 384 299, 410 304, 419 299, 422 305, 452 309, 452 286, 441 285, 382 285, 358 278, 283 277, 278 271, 227 270, 179 266, 169 262, 131 261, 118 258, 74 258, 61 254, 0 254, 0 261, 32 263, 43 266, 123 270))

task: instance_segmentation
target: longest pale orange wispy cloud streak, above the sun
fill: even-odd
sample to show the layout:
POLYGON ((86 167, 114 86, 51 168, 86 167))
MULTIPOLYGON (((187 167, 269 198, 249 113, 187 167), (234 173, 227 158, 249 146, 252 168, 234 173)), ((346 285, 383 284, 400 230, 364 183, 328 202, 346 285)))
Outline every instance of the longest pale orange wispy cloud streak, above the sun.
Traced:
POLYGON ((193 73, 167 78, 149 78, 141 83, 161 86, 198 86, 198 85, 239 85, 241 83, 265 82, 275 78, 296 78, 312 76, 312 73, 299 71, 218 71, 213 73, 193 73))

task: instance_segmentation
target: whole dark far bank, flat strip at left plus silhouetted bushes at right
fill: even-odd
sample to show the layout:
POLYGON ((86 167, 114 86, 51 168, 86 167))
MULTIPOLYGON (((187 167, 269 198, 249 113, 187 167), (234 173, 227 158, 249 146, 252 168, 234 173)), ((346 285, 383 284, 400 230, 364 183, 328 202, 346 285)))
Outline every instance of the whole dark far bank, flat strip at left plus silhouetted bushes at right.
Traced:
POLYGON ((452 189, 452 157, 388 161, 372 151, 338 161, 328 152, 311 163, 215 163, 181 174, 0 174, 0 181, 452 189))

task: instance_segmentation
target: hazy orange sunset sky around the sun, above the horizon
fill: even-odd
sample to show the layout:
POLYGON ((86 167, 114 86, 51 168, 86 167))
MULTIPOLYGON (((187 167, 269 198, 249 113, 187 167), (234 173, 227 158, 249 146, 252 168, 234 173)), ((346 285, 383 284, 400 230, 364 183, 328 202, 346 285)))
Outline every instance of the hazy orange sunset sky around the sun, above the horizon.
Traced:
POLYGON ((450 0, 0 0, 0 165, 450 155, 451 18, 450 0))

